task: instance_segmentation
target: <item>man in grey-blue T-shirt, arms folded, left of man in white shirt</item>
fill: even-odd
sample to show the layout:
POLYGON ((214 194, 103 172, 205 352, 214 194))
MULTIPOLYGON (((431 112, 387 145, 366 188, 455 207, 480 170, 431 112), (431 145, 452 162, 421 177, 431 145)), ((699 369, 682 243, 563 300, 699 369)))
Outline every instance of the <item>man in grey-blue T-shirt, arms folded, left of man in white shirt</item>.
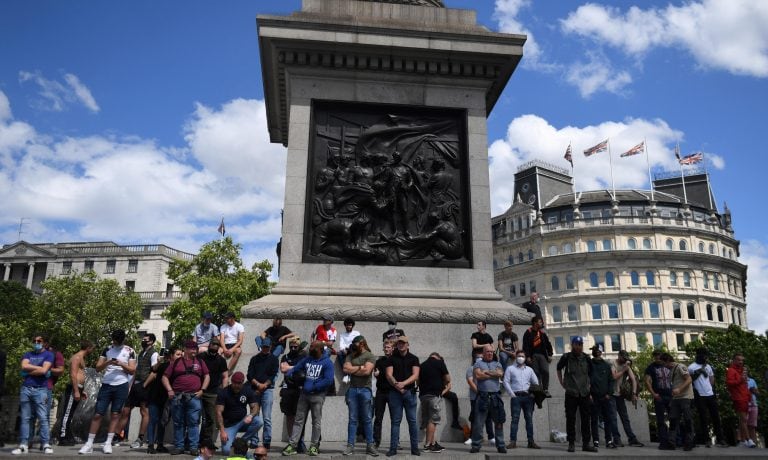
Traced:
POLYGON ((491 418, 495 427, 496 450, 500 454, 507 452, 504 447, 504 402, 501 400, 501 378, 504 369, 501 363, 493 359, 493 346, 483 347, 483 358, 475 362, 473 374, 477 381, 477 396, 475 397, 475 421, 472 424, 472 449, 470 453, 480 452, 483 442, 483 426, 487 418, 491 418))

